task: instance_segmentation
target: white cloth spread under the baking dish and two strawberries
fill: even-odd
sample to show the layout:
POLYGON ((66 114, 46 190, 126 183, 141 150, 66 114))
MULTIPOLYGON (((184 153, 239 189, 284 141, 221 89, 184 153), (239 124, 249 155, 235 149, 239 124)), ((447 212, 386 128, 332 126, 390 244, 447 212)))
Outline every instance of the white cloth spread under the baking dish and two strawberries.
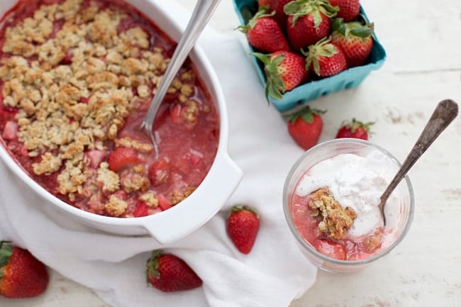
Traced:
MULTIPOLYGON (((162 5, 187 23, 190 13, 174 1, 162 5)), ((240 41, 207 28, 199 43, 223 86, 230 124, 229 154, 243 180, 226 206, 187 238, 160 246, 152 238, 98 233, 67 216, 50 218, 47 203, 0 163, 0 239, 27 248, 49 267, 96 291, 114 307, 283 307, 316 279, 291 236, 282 211, 285 176, 302 150, 286 124, 267 106, 257 74, 240 41), (261 228, 249 255, 226 235, 228 209, 245 203, 260 213, 261 228), (148 286, 145 262, 154 249, 182 257, 204 281, 191 291, 165 294, 148 286)))

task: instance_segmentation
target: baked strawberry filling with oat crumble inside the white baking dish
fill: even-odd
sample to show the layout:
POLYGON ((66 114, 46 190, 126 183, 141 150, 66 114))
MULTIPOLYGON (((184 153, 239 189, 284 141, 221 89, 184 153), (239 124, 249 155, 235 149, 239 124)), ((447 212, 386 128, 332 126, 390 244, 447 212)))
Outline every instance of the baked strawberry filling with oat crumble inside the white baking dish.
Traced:
POLYGON ((138 217, 196 189, 218 147, 216 108, 190 60, 160 106, 160 157, 138 127, 174 43, 123 1, 21 0, 1 19, 1 143, 84 211, 138 217))

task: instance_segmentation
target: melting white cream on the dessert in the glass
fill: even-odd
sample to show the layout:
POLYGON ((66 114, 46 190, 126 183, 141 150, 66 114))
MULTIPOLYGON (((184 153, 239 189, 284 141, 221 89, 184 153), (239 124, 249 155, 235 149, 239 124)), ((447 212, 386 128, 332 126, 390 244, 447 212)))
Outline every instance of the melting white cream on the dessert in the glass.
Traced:
MULTIPOLYGON (((380 197, 397 170, 393 160, 382 152, 371 151, 363 156, 340 154, 311 167, 301 177, 296 194, 306 196, 328 186, 341 206, 350 207, 357 214, 348 230, 349 238, 360 237, 383 225, 378 207, 380 197)), ((398 206, 398 201, 391 195, 386 206, 398 206)), ((387 216, 387 221, 388 218, 395 216, 387 216)))

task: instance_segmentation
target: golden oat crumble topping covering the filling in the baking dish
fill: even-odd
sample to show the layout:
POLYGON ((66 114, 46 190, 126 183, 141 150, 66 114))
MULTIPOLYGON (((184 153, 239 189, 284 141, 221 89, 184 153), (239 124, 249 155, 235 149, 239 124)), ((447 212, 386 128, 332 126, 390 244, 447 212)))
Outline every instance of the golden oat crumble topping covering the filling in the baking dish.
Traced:
MULTIPOLYGON (((33 16, 5 31, 0 59, 1 95, 4 106, 18 108, 18 140, 37 175, 57 175, 57 191, 72 201, 102 186, 104 192, 141 191, 141 199, 157 206, 155 193, 146 192, 145 167, 121 178, 101 162, 95 172, 86 168, 88 150, 116 147, 152 152, 150 143, 118 138, 125 118, 141 101, 152 97, 170 61, 162 48, 152 48, 150 35, 139 26, 118 33, 126 12, 117 6, 99 8, 93 2, 65 0, 42 5, 33 16), (132 88, 136 90, 133 91, 132 88)), ((191 71, 174 79, 169 92, 179 93, 182 118, 195 123, 199 106, 192 96, 191 71)), ((186 198, 193 187, 172 194, 173 203, 186 198)), ((99 196, 91 196, 99 199, 99 196)), ((128 204, 111 195, 104 204, 113 216, 121 216, 128 204)))

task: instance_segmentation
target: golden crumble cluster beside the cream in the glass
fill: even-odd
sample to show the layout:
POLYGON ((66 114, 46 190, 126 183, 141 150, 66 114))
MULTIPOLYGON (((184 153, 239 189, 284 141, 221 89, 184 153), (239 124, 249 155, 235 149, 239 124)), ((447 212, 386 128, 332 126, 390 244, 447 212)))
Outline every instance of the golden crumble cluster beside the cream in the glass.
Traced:
POLYGON ((321 219, 318 223, 318 230, 338 240, 346 238, 348 229, 352 227, 357 217, 352 208, 343 208, 328 188, 313 192, 308 206, 311 208, 312 216, 321 219))

